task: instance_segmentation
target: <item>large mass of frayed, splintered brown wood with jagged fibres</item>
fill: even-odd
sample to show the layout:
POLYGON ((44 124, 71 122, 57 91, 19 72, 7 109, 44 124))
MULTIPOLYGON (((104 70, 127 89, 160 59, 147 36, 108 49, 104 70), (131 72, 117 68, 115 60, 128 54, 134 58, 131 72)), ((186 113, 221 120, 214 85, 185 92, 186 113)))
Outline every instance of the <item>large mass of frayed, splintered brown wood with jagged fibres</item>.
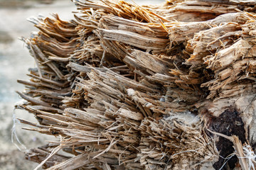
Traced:
POLYGON ((254 169, 255 1, 73 2, 23 38, 36 169, 254 169))

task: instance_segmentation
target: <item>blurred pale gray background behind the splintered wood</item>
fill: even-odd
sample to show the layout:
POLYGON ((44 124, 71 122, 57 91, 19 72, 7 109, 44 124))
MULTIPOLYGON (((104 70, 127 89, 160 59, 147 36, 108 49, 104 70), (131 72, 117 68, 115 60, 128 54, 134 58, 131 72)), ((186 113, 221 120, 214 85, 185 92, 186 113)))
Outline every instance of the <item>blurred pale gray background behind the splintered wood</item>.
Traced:
MULTIPOLYGON (((134 0, 139 5, 163 1, 134 0)), ((24 89, 16 80, 28 79, 28 68, 35 67, 24 43, 18 40, 28 38, 31 31, 37 31, 26 18, 58 13, 61 19, 70 20, 72 11, 75 11, 75 5, 70 0, 0 0, 0 170, 34 169, 37 164, 24 159, 23 152, 45 144, 46 140, 54 140, 37 132, 21 130, 23 125, 16 120, 23 118, 36 122, 26 111, 14 110, 15 103, 21 101, 15 91, 24 89), (14 142, 11 142, 12 134, 14 142)))

